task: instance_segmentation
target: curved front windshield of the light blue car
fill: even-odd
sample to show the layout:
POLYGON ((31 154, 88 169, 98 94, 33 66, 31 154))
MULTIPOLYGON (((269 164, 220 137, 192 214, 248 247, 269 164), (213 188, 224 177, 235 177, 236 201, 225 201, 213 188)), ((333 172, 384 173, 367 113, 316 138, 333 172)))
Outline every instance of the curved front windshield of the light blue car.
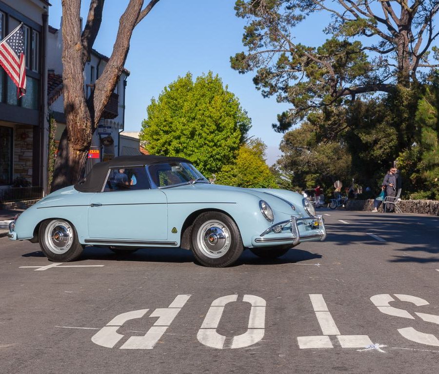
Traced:
POLYGON ((159 188, 189 183, 209 183, 194 165, 187 162, 149 165, 148 172, 154 184, 159 188))

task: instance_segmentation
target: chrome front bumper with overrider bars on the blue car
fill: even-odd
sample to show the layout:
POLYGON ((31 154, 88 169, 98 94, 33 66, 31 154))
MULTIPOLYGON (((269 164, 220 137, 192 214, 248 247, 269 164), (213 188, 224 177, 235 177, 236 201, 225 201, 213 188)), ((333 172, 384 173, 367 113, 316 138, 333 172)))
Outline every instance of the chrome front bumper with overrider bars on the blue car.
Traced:
POLYGON ((278 222, 271 227, 269 227, 267 230, 265 230, 262 234, 260 234, 260 237, 257 237, 255 239, 256 242, 279 242, 279 241, 289 241, 290 238, 285 236, 279 236, 279 237, 264 237, 265 235, 273 232, 273 233, 281 233, 282 229, 285 226, 291 225, 290 230, 293 234, 293 246, 300 243, 300 241, 305 239, 319 239, 320 241, 323 241, 326 238, 326 230, 324 225, 324 220, 322 216, 316 216, 316 217, 305 217, 305 218, 297 218, 294 216, 291 216, 291 219, 287 219, 285 221, 278 222), (313 227, 313 230, 319 230, 320 233, 318 234, 310 234, 310 235, 300 235, 299 228, 297 226, 298 221, 311 221, 311 226, 313 227))

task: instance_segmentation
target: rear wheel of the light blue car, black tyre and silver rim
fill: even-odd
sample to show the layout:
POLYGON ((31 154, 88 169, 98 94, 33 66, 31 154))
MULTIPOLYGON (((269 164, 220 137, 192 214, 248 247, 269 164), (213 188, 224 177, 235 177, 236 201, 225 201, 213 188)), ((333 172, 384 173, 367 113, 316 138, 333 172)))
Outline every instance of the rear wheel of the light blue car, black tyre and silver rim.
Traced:
POLYGON ((74 261, 84 250, 75 227, 64 219, 42 222, 38 237, 41 251, 50 261, 74 261))

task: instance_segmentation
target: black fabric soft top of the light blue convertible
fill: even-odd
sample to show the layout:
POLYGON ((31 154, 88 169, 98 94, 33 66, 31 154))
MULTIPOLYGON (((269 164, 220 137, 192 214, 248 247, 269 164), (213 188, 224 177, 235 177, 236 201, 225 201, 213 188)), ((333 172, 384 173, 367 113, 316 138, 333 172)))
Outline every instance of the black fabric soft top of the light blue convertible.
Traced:
POLYGON ((92 170, 90 170, 90 173, 88 173, 84 179, 80 180, 73 187, 75 190, 80 192, 100 192, 109 168, 151 165, 161 162, 191 163, 191 161, 183 157, 166 157, 155 155, 115 157, 110 161, 98 162, 94 164, 92 170))

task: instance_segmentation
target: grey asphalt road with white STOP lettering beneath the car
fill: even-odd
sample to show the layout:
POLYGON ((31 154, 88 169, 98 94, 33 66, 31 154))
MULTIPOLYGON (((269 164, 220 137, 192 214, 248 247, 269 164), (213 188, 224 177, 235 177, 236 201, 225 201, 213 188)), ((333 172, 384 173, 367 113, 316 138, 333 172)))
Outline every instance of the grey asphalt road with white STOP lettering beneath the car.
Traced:
POLYGON ((225 269, 0 238, 0 372, 438 373, 439 217, 319 213, 324 242, 225 269))

